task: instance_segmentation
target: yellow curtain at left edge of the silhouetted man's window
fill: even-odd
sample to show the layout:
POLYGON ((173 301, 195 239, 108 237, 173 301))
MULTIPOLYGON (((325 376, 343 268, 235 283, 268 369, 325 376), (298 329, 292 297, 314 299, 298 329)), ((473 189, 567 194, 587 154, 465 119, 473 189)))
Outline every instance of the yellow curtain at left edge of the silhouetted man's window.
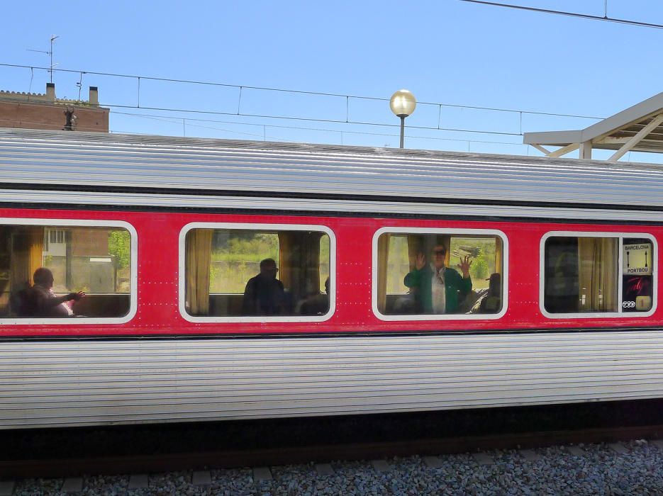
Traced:
POLYGON ((211 229, 194 229, 186 234, 186 307, 192 315, 209 313, 212 235, 211 229))

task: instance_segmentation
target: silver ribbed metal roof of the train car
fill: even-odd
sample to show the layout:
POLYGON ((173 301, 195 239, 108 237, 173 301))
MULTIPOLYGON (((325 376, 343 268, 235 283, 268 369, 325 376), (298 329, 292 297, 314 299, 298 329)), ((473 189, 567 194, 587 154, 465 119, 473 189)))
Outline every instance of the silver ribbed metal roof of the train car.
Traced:
POLYGON ((598 160, 0 128, 13 184, 89 190, 663 208, 663 166, 598 160))

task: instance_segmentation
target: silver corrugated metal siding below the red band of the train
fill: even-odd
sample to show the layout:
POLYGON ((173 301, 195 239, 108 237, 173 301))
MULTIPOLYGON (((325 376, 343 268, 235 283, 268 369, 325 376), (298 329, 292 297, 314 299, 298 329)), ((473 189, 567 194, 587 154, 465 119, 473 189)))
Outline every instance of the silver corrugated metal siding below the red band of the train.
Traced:
POLYGON ((659 332, 0 344, 0 428, 659 397, 659 332))

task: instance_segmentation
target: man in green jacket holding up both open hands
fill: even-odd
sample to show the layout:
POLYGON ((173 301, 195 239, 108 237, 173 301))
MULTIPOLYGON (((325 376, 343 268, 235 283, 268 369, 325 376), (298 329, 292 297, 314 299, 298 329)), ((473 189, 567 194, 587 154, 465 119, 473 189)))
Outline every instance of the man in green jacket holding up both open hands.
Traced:
POLYGON ((416 258, 416 269, 405 276, 403 282, 411 288, 420 312, 455 313, 460 303, 472 291, 472 278, 469 276, 472 261, 469 256, 460 259, 458 264, 462 276, 455 269, 445 266, 446 257, 445 246, 436 244, 430 264, 426 263, 425 255, 420 253, 416 258))

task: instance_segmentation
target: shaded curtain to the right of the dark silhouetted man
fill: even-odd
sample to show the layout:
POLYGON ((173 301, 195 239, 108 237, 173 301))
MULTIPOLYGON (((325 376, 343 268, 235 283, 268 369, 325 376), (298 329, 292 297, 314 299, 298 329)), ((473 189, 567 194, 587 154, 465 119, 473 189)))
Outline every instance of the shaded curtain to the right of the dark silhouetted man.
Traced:
POLYGON ((293 302, 320 293, 322 232, 279 232, 279 279, 293 302))

